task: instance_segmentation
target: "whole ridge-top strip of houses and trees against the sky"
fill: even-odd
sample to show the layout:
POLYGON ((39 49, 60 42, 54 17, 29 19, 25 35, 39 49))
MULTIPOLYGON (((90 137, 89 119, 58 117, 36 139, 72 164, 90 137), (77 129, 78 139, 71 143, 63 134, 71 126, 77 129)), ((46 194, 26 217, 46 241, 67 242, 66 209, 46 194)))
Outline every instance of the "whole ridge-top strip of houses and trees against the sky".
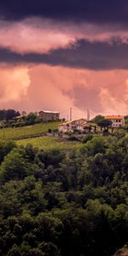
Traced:
POLYGON ((60 118, 59 111, 42 110, 38 113, 26 113, 25 111, 20 113, 14 109, 0 110, 0 128, 16 128, 48 122, 58 122, 58 127, 56 129, 58 134, 101 133, 127 128, 128 117, 124 115, 113 114, 102 116, 98 114, 93 119, 90 119, 90 115, 87 112, 87 118, 72 119, 71 115, 70 120, 66 120, 60 118))

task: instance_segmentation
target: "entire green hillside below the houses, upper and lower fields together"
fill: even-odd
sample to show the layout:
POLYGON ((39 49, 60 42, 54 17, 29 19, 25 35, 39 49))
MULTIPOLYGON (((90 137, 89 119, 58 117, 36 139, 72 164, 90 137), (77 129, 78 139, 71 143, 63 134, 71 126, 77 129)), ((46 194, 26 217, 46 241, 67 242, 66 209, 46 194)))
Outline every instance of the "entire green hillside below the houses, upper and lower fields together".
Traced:
POLYGON ((18 145, 26 146, 31 143, 34 147, 42 149, 71 149, 79 147, 79 143, 63 141, 59 137, 46 137, 49 129, 58 127, 59 122, 29 125, 19 128, 5 128, 0 130, 0 140, 15 140, 18 145), (43 137, 38 137, 43 135, 43 137), (37 136, 37 137, 36 137, 37 136))

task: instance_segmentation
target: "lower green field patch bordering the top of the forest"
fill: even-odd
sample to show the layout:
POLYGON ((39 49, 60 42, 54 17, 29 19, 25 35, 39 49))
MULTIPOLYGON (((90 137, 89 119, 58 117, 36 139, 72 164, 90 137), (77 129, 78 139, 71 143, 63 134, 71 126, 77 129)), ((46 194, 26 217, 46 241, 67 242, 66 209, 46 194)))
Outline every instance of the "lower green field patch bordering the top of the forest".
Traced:
POLYGON ((69 142, 66 140, 62 140, 59 137, 35 137, 35 138, 30 138, 30 139, 23 139, 23 140, 18 140, 16 143, 20 146, 26 146, 28 143, 31 143, 35 148, 40 148, 44 150, 49 150, 49 149, 63 149, 63 150, 68 150, 68 149, 73 149, 73 148, 79 148, 81 143, 77 142, 69 142))

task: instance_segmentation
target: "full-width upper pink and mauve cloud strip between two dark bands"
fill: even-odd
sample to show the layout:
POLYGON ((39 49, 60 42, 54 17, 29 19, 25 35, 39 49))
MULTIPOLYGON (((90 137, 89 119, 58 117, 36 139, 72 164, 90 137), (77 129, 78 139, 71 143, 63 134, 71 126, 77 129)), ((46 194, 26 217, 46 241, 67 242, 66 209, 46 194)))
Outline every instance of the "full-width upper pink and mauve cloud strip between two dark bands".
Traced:
POLYGON ((48 53, 51 49, 77 47, 77 40, 108 41, 113 38, 128 43, 127 29, 121 26, 57 22, 41 18, 21 21, 0 20, 0 47, 16 52, 48 53))

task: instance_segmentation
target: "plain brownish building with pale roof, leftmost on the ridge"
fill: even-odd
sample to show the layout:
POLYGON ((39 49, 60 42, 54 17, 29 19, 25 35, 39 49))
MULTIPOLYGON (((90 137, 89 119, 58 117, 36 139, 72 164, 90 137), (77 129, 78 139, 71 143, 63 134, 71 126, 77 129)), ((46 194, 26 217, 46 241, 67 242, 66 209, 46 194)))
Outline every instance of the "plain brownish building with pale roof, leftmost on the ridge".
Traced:
POLYGON ((44 121, 57 121, 60 119, 60 113, 54 111, 42 110, 39 113, 39 117, 44 121))

